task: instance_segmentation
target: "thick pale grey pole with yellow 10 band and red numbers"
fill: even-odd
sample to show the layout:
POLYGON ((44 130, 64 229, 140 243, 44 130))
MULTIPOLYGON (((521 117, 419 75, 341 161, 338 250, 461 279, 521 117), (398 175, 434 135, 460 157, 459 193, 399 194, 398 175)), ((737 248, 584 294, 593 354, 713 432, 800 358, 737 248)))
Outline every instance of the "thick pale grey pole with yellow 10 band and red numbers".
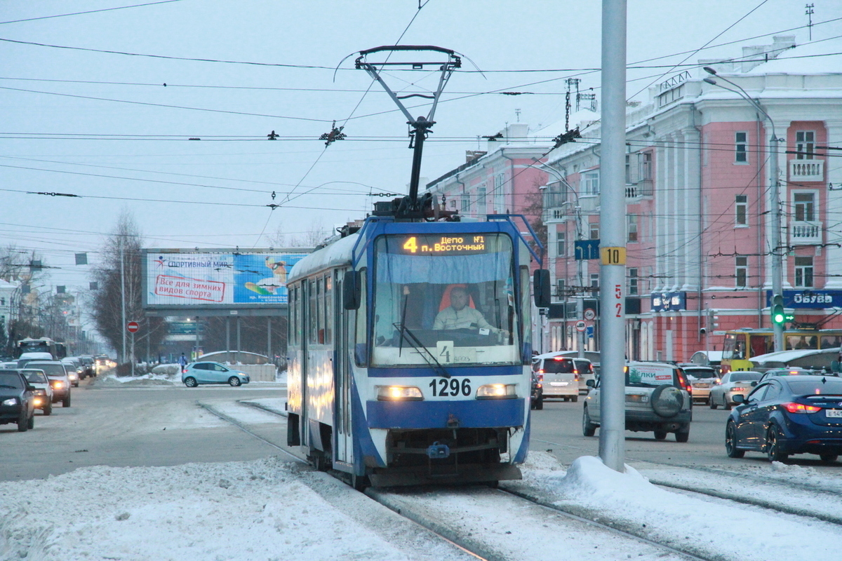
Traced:
POLYGON ((626 459, 626 0, 602 0, 600 458, 626 459))

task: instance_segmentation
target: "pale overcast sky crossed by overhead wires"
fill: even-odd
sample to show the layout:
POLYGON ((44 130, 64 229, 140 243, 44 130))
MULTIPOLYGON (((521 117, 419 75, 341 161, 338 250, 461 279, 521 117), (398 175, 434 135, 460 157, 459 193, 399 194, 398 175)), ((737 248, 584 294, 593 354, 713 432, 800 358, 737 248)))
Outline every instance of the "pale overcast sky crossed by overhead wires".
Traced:
MULTIPOLYGON (((3 0, 0 244, 39 251, 73 291, 89 280, 73 254, 98 262, 124 209, 149 247, 265 247, 363 217, 370 193, 406 192, 412 152, 406 119, 354 57, 398 40, 466 57, 425 144, 429 179, 507 123, 562 133, 568 77, 599 92, 599 1, 422 3, 3 0), (333 120, 348 136, 326 149, 333 120)), ((838 0, 813 3, 814 24, 842 18, 838 0)), ((804 0, 630 0, 628 61, 658 67, 629 71, 629 97, 685 69, 670 65, 738 57, 786 29, 805 43, 804 12, 804 0)), ((813 40, 837 35, 842 21, 813 27, 813 40)), ((390 79, 417 91, 438 73, 390 79)))

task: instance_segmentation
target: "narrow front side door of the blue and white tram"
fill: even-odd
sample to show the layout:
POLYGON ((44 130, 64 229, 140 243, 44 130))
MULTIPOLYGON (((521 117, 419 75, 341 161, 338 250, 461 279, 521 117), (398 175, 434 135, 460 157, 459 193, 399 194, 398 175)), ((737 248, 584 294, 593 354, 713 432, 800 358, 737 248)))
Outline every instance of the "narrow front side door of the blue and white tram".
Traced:
POLYGON ((335 394, 335 418, 333 419, 334 461, 354 463, 354 444, 351 439, 351 365, 349 361, 349 315, 354 312, 345 310, 343 305, 344 271, 333 272, 333 333, 335 334, 335 352, 333 354, 333 387, 335 394))

